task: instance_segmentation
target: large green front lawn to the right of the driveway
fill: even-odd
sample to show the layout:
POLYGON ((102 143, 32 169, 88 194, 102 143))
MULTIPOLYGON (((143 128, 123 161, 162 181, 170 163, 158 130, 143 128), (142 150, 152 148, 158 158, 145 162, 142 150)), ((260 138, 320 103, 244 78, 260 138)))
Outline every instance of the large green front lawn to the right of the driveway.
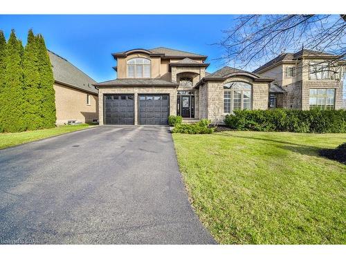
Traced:
POLYGON ((346 134, 173 134, 192 206, 222 244, 345 244, 346 134))

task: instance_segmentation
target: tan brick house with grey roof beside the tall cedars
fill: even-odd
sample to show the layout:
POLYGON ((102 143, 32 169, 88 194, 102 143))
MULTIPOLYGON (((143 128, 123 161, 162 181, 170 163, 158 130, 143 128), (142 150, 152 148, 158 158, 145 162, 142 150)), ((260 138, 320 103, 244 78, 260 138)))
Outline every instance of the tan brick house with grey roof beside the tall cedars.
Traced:
POLYGON ((48 55, 55 79, 56 124, 98 122, 96 81, 54 52, 48 55))

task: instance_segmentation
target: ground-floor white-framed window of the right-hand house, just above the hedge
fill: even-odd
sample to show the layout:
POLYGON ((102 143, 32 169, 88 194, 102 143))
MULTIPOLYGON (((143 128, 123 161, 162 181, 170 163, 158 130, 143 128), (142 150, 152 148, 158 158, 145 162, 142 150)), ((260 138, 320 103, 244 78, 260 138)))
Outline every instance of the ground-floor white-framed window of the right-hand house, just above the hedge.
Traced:
POLYGON ((320 108, 321 110, 334 110, 335 89, 310 88, 309 106, 310 109, 320 108))

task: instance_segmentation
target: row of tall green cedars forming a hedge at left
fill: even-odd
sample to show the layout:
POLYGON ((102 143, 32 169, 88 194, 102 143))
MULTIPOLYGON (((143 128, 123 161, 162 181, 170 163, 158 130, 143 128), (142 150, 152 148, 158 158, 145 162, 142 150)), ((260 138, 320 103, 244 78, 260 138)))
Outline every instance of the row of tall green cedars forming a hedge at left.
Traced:
POLYGON ((0 133, 55 126, 54 77, 42 35, 28 32, 24 48, 0 30, 0 133))

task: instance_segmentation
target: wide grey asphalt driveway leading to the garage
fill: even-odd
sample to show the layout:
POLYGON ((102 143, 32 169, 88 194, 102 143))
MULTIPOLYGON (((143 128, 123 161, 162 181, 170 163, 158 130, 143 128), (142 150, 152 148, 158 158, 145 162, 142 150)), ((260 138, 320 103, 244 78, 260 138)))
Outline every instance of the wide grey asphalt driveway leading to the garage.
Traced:
POLYGON ((100 126, 0 150, 0 244, 213 244, 164 126, 100 126))

